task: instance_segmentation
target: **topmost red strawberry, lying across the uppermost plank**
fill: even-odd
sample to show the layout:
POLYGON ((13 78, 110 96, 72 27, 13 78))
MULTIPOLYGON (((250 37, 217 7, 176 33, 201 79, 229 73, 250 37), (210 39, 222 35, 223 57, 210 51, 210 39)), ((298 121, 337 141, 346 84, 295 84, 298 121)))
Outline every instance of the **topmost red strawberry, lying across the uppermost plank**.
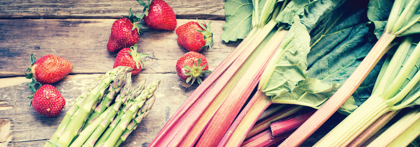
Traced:
POLYGON ((176 18, 171 6, 163 0, 148 0, 148 4, 137 0, 144 6, 144 23, 152 29, 175 30, 176 18))

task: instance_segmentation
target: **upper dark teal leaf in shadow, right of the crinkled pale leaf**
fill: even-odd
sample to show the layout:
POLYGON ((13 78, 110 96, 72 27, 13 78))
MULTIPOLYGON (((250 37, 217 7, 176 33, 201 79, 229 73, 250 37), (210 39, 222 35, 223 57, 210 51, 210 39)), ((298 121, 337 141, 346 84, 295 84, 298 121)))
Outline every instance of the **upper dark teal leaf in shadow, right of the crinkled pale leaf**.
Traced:
MULTIPOLYGON (((344 39, 347 39, 350 34, 360 32, 361 25, 357 24, 365 21, 365 9, 352 10, 341 6, 333 11, 330 15, 322 20, 317 27, 312 29, 311 35, 311 50, 308 54, 308 66, 312 66, 315 61, 328 54, 333 48, 337 47, 344 39), (347 11, 346 11, 347 10, 347 11), (353 33, 352 33, 353 32, 353 33)), ((359 38, 352 37, 356 44, 364 42, 362 40, 364 35, 357 35, 359 38), (358 40, 360 39, 360 40, 358 40)), ((353 43, 354 45, 354 43, 353 43)))

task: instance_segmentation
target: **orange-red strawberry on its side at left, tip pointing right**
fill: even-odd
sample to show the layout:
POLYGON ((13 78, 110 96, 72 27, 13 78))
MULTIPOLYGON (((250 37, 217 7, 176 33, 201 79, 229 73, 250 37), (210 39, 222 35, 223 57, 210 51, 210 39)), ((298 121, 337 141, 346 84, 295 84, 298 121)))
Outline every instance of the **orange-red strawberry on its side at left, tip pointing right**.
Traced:
POLYGON ((31 54, 30 60, 31 67, 26 71, 31 71, 31 74, 25 73, 26 78, 34 78, 41 84, 53 84, 63 79, 73 69, 68 60, 55 55, 45 55, 35 61, 35 56, 31 54))

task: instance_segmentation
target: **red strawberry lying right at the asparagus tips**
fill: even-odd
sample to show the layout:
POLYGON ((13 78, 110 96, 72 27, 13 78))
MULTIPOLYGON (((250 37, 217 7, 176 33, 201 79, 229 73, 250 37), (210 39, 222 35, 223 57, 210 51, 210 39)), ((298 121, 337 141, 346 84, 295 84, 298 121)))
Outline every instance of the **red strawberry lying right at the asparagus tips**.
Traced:
POLYGON ((145 63, 142 58, 144 57, 147 57, 147 54, 137 53, 137 44, 130 48, 123 48, 118 52, 113 68, 118 66, 129 66, 133 68, 131 75, 136 75, 143 69, 143 64, 145 63))

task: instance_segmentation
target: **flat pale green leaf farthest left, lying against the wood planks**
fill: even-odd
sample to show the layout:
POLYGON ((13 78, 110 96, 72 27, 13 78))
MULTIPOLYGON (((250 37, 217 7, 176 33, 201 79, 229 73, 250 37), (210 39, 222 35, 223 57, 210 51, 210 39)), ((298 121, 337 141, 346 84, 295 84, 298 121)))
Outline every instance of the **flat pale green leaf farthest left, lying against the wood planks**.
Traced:
POLYGON ((226 23, 221 39, 225 42, 244 39, 251 31, 252 0, 226 0, 226 23))

